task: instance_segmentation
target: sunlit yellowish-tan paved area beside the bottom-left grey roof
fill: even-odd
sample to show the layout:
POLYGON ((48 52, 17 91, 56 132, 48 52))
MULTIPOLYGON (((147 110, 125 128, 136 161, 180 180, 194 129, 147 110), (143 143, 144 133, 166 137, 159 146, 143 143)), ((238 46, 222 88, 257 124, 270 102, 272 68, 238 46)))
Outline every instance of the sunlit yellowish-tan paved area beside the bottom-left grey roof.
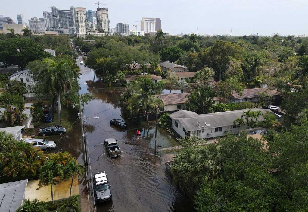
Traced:
MULTIPOLYGON (((56 185, 52 186, 53 193, 54 193, 54 200, 67 198, 70 196, 70 188, 71 188, 71 179, 70 180, 63 180, 59 181, 56 185)), ((51 185, 39 185, 39 180, 31 180, 28 181, 26 187, 25 198, 33 200, 38 199, 45 202, 51 201, 51 185)), ((72 186, 72 194, 79 194, 79 186, 78 186, 78 179, 75 176, 72 186)))

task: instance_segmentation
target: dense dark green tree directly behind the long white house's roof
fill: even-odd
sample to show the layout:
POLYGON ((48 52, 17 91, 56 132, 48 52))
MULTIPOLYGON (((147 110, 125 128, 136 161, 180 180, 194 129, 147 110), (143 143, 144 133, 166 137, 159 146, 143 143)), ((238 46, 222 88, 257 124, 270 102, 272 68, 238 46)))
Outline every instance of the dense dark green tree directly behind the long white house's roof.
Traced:
POLYGON ((213 105, 213 98, 215 96, 216 89, 214 86, 198 86, 188 97, 185 109, 198 114, 208 113, 213 105))

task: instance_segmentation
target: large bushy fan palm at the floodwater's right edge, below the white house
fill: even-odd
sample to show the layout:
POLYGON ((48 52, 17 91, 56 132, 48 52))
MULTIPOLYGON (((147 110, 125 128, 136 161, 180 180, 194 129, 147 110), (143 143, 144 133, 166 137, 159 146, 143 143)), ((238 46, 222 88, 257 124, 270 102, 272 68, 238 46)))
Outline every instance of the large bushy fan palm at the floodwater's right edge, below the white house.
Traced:
POLYGON ((174 181, 195 191, 202 180, 213 181, 222 170, 222 158, 217 144, 183 148, 171 167, 174 181))

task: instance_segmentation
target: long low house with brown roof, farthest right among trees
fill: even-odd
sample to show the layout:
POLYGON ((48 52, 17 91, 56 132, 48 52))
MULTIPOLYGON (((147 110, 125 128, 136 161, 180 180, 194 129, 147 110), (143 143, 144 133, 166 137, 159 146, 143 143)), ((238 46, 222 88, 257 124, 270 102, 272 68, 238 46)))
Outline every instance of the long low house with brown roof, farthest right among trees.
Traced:
MULTIPOLYGON (((237 94, 235 91, 231 94, 231 100, 234 102, 259 102, 264 88, 250 88, 245 89, 242 95, 237 94)), ((273 99, 280 98, 280 92, 275 89, 268 90, 268 93, 273 99)))

